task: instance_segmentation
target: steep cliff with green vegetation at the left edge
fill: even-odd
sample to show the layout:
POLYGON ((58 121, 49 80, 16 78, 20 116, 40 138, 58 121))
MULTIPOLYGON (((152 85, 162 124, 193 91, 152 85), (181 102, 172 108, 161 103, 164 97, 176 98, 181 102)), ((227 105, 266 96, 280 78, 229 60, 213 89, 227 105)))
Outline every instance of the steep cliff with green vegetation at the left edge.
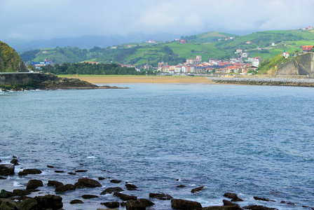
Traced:
POLYGON ((0 41, 0 72, 27 72, 27 67, 13 48, 0 41))

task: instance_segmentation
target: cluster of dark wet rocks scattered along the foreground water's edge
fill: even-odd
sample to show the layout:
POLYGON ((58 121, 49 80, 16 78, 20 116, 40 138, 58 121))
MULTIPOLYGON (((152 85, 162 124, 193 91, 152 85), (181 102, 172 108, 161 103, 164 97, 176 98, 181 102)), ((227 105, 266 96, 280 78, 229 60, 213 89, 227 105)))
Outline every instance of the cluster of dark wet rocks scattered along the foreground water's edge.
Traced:
MULTIPOLYGON (((16 157, 15 157, 16 158, 16 157)), ((1 162, 1 160, 0 160, 1 162)), ((14 164, 18 164, 17 159, 13 159, 11 164, 0 165, 0 179, 6 179, 8 176, 16 176, 14 164), (12 165, 11 165, 12 164, 12 165)), ((48 168, 53 168, 53 166, 48 165, 48 168)), ((42 169, 23 169, 22 172, 18 173, 18 176, 25 176, 29 174, 41 174, 42 169)), ((60 173, 61 171, 55 170, 55 173, 60 173)), ((77 170, 77 173, 84 173, 87 170, 77 170)), ((68 173, 75 175, 76 173, 68 173)), ((56 176, 57 177, 57 176, 56 176)), ((0 209, 4 210, 30 210, 30 209, 62 209, 64 207, 62 203, 62 195, 67 195, 67 193, 71 193, 78 188, 100 188, 102 184, 99 181, 104 180, 105 178, 99 177, 98 181, 90 178, 80 178, 77 179, 74 184, 64 184, 60 181, 49 180, 48 183, 43 183, 43 181, 39 179, 29 179, 27 186, 25 189, 15 189, 12 192, 2 189, 0 192, 0 209), (42 196, 32 196, 32 193, 40 192, 40 188, 43 186, 50 186, 51 190, 53 190, 48 195, 42 196), (50 195, 55 194, 55 195, 50 195)), ((1 181, 0 181, 1 183, 1 181)), ((121 183, 121 180, 110 179, 110 183, 121 183)), ((186 186, 180 185, 177 188, 185 188, 186 186)), ((145 210, 145 209, 154 209, 154 202, 158 202, 158 200, 167 201, 169 200, 172 209, 203 209, 203 210, 238 210, 238 209, 253 209, 253 210, 268 210, 275 209, 264 207, 261 205, 250 205, 241 207, 238 202, 243 202, 243 200, 238 197, 235 193, 225 193, 224 196, 226 199, 222 200, 221 206, 214 207, 202 207, 202 204, 199 202, 191 201, 191 200, 182 200, 173 198, 171 195, 167 195, 165 193, 149 193, 146 198, 139 198, 135 196, 136 191, 139 190, 137 186, 131 183, 125 183, 125 188, 120 187, 110 187, 102 190, 99 195, 81 195, 80 199, 74 199, 69 202, 69 204, 82 204, 84 200, 89 200, 93 198, 100 197, 101 195, 113 194, 116 197, 116 201, 112 202, 100 202, 100 204, 104 205, 104 208, 110 209, 118 209, 119 207, 125 207, 128 210, 145 210), (128 195, 129 193, 125 193, 125 190, 132 191, 133 195, 128 195)), ((191 193, 201 193, 204 189, 204 186, 200 186, 198 188, 194 188, 191 190, 191 193)), ((77 198, 77 197, 76 197, 77 198)), ((255 200, 263 200, 264 202, 275 202, 274 200, 268 200, 262 197, 254 197, 255 200)), ((282 201, 281 204, 288 204, 295 206, 295 204, 291 202, 282 201)), ((310 207, 305 207, 307 209, 313 209, 310 207)))

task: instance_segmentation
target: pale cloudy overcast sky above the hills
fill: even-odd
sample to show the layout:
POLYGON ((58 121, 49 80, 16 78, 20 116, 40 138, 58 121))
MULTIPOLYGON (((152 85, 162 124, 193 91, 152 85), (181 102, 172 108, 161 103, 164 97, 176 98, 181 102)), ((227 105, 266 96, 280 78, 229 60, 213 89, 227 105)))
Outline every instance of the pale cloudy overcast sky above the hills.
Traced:
POLYGON ((314 26, 313 0, 0 0, 0 40, 314 26))

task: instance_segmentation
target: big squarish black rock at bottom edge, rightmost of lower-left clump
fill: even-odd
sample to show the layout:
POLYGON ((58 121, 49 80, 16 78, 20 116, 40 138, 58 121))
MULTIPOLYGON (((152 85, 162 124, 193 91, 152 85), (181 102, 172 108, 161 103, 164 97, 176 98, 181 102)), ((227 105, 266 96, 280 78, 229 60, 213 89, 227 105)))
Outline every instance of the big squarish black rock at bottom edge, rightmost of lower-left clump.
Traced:
POLYGON ((63 207, 62 197, 57 195, 36 196, 36 209, 61 209, 63 207))

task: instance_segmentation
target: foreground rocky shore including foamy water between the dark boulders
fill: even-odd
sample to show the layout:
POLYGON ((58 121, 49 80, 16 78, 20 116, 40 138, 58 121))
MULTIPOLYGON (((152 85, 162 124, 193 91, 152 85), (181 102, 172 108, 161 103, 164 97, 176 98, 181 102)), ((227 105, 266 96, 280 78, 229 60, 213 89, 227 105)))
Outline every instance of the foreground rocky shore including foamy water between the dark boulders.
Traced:
MULTIPOLYGON (((1 162, 1 160, 0 160, 1 162)), ((128 183, 121 180, 116 180, 111 177, 98 177, 98 178, 88 178, 83 176, 78 176, 77 174, 83 174, 87 172, 87 170, 76 170, 75 172, 64 172, 55 169, 53 178, 55 180, 48 180, 42 181, 43 176, 41 174, 48 174, 48 169, 54 169, 52 165, 47 165, 46 169, 22 169, 22 171, 16 173, 15 166, 20 165, 19 160, 17 157, 13 156, 10 164, 2 164, 0 165, 0 183, 1 180, 14 180, 18 176, 20 179, 27 179, 28 182, 26 186, 20 186, 14 190, 6 190, 2 189, 0 192, 0 209, 18 209, 18 210, 30 210, 30 209, 63 209, 64 202, 62 202, 62 197, 71 197, 74 191, 78 190, 80 196, 71 197, 71 201, 69 204, 73 206, 73 209, 81 209, 80 204, 84 204, 88 202, 88 200, 95 200, 97 198, 103 198, 106 200, 107 195, 113 195, 115 198, 114 201, 107 201, 101 202, 100 204, 104 206, 104 209, 130 209, 130 210, 144 210, 144 209, 155 209, 154 205, 157 202, 169 202, 169 206, 172 209, 203 209, 203 210, 214 210, 214 209, 221 209, 221 210, 233 210, 233 209, 275 209, 266 207, 264 205, 241 205, 243 199, 238 197, 235 193, 225 193, 221 195, 221 206, 212 206, 212 207, 202 207, 200 202, 196 202, 193 200, 182 200, 172 197, 171 195, 167 195, 165 193, 149 193, 146 197, 138 197, 137 192, 140 192, 137 186, 132 183, 128 183), (59 174, 67 174, 67 176, 73 177, 73 183, 62 183, 62 176, 59 174), (15 176, 15 177, 14 177, 15 176), (34 177, 36 179, 34 179, 34 177), (31 179, 33 178, 33 179, 31 179), (107 188, 102 188, 103 181, 109 180, 112 186, 107 188), (123 183, 123 188, 116 187, 115 184, 123 183), (22 187, 22 189, 21 189, 22 187), (41 190, 43 188, 48 189, 46 191, 46 195, 42 195, 41 190), (93 195, 86 194, 86 190, 88 188, 95 188, 99 189, 93 195), (41 194, 41 195, 40 195, 41 194)), ((51 177, 51 176, 50 176, 51 177)), ((186 188, 184 185, 177 186, 177 188, 186 188)), ((191 192, 198 195, 202 193, 203 190, 206 190, 204 186, 200 186, 198 188, 193 188, 191 192)), ((96 191, 95 191, 96 192, 96 191)), ((142 196, 142 195, 141 195, 142 196)), ((265 204, 274 204, 276 203, 275 200, 270 200, 264 197, 254 197, 256 201, 263 201, 265 204)), ((282 205, 290 205, 296 208, 296 204, 291 202, 277 202, 278 204, 282 205)), ((311 207, 302 206, 302 209, 313 209, 311 207)), ((72 209, 72 207, 71 207, 72 209)), ((96 209, 96 208, 95 208, 96 209)), ((98 208, 102 209, 102 208, 98 208)))

